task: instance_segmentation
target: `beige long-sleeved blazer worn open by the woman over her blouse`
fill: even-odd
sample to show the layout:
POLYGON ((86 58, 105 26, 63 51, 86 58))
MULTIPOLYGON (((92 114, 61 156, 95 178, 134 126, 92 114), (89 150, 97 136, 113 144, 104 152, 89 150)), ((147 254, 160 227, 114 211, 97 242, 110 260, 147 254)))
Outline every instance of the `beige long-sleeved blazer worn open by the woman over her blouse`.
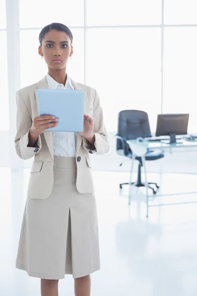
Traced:
MULTIPOLYGON (((95 147, 91 147, 90 143, 79 134, 76 142, 76 187, 80 193, 92 193, 94 192, 94 183, 90 154, 106 153, 109 150, 108 137, 96 90, 72 79, 71 82, 74 89, 84 91, 84 113, 88 113, 94 118, 95 147)), ((52 132, 45 131, 38 137, 36 147, 28 147, 29 131, 32 127, 33 118, 39 115, 37 107, 38 88, 48 88, 46 76, 38 83, 22 88, 16 93, 17 133, 15 148, 18 156, 22 159, 30 159, 34 156, 28 185, 28 197, 44 199, 51 194, 54 182, 52 132)))

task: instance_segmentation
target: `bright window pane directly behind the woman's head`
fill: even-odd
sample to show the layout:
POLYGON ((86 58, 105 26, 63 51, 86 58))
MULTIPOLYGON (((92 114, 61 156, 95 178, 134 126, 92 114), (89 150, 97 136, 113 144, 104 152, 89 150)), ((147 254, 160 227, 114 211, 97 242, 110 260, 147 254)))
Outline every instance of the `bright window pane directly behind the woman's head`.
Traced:
MULTIPOLYGON (((20 33, 21 87, 39 81, 48 72, 44 59, 41 59, 38 54, 39 32, 40 30, 22 30, 20 33)), ((73 29, 72 34, 73 56, 68 61, 67 73, 74 80, 83 83, 84 31, 83 29, 73 29)))

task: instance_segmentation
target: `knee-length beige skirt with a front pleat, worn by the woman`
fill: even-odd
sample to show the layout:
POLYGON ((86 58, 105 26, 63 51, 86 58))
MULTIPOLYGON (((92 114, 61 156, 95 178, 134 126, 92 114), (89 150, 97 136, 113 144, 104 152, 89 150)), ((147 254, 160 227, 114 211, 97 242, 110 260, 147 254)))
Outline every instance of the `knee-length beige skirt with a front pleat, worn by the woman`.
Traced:
POLYGON ((75 157, 54 156, 54 187, 46 199, 27 199, 16 267, 29 276, 63 279, 100 268, 97 206, 76 189, 75 157))

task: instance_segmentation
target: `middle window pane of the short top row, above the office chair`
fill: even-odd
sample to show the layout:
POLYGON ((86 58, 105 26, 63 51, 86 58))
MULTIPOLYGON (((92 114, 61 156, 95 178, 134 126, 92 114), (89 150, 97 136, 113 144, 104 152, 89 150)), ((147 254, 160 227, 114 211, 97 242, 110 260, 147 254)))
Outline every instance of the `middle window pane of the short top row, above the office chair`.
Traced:
POLYGON ((87 0, 88 26, 161 24, 161 0, 87 0))

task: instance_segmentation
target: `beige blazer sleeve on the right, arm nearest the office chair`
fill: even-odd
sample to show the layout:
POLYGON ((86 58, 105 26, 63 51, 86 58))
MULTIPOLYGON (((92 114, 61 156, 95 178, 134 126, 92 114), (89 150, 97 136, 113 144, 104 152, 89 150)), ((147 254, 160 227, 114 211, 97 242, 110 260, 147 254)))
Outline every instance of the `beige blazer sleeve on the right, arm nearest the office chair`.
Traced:
POLYGON ((103 111, 100 106, 98 93, 95 91, 95 100, 93 104, 93 119, 95 144, 92 146, 85 138, 83 138, 83 148, 96 154, 105 154, 109 150, 109 140, 103 121, 103 111))

